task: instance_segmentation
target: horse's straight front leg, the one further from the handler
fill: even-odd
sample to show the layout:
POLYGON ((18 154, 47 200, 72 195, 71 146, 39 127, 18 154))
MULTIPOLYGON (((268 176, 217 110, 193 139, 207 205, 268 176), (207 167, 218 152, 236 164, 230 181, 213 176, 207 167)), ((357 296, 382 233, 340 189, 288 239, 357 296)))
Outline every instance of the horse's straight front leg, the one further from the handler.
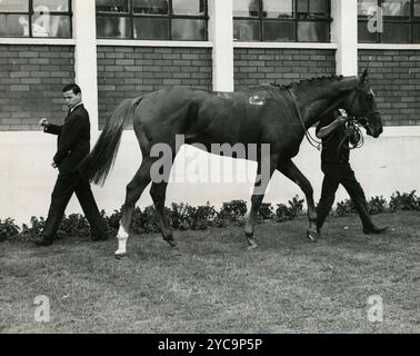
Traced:
POLYGON ((253 238, 253 231, 258 218, 258 210, 261 207, 262 199, 266 195, 266 189, 270 182, 271 176, 277 166, 277 156, 271 155, 269 158, 262 158, 258 161, 257 178, 251 197, 251 210, 244 227, 244 234, 248 241, 248 248, 256 248, 258 245, 253 238))

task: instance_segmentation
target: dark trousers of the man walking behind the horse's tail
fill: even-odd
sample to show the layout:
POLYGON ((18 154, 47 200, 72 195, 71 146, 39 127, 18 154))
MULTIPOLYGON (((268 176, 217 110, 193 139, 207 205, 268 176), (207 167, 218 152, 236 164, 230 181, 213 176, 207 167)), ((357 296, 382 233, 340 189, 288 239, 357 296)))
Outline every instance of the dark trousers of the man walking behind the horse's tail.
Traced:
POLYGON ((43 237, 53 240, 61 224, 64 210, 71 196, 76 192, 84 216, 90 225, 92 238, 101 238, 107 234, 107 227, 94 201, 90 184, 78 172, 60 172, 51 195, 50 209, 43 228, 43 237))

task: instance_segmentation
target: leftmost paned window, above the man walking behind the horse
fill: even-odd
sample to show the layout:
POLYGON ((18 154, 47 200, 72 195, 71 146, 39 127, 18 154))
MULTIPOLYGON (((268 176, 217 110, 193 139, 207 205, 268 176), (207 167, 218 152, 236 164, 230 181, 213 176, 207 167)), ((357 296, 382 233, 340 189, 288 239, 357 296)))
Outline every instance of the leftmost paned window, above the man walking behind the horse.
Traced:
POLYGON ((71 38, 71 1, 0 0, 0 37, 71 38))

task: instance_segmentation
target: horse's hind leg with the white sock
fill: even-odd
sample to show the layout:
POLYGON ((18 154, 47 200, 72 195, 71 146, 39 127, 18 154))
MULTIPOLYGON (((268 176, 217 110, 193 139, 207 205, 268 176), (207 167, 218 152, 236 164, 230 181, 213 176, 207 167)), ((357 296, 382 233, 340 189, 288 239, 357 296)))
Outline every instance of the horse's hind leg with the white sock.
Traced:
POLYGON ((149 185, 150 168, 153 160, 150 157, 143 158, 139 170, 136 172, 134 177, 127 186, 126 202, 122 207, 122 215, 120 220, 120 228, 117 234, 118 238, 118 249, 116 251, 116 257, 121 257, 126 255, 127 239, 129 237, 132 212, 136 207, 137 200, 139 200, 144 188, 149 185))

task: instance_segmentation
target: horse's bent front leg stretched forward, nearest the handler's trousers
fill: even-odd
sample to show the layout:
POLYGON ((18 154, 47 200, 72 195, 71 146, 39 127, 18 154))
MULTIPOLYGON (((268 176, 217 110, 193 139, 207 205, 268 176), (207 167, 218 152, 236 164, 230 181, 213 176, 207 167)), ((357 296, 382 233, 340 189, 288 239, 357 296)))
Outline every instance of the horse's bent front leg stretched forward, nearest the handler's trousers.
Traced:
POLYGON ((316 241, 318 239, 317 210, 313 202, 313 188, 310 181, 303 176, 299 168, 294 166, 291 159, 280 161, 277 169, 302 189, 308 205, 309 228, 307 230, 307 237, 316 241))

